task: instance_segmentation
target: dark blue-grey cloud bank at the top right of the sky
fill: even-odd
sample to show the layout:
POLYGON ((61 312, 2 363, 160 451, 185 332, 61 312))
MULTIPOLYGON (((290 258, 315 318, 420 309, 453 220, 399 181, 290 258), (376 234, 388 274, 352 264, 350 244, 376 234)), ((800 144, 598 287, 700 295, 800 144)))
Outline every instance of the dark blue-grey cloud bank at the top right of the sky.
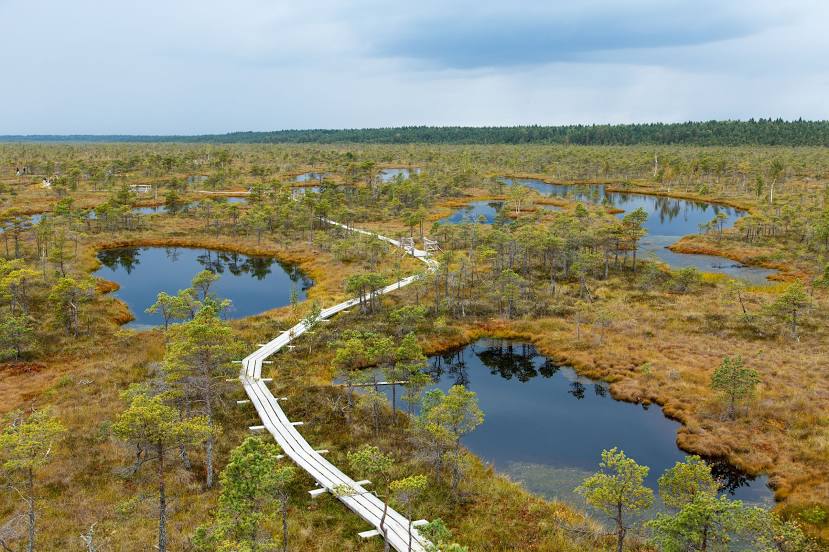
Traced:
POLYGON ((460 69, 596 61, 608 59, 603 52, 740 38, 773 21, 761 2, 743 13, 708 0, 487 5, 414 14, 380 32, 376 51, 460 69))

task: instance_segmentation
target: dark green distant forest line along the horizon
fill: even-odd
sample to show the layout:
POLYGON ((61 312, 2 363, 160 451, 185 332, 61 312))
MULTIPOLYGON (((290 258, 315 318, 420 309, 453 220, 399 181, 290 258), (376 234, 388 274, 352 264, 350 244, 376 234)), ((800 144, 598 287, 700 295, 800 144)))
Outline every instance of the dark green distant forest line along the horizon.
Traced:
POLYGON ((215 144, 574 144, 829 146, 829 121, 707 121, 514 127, 409 126, 277 130, 192 136, 7 135, 4 142, 182 142, 215 144))

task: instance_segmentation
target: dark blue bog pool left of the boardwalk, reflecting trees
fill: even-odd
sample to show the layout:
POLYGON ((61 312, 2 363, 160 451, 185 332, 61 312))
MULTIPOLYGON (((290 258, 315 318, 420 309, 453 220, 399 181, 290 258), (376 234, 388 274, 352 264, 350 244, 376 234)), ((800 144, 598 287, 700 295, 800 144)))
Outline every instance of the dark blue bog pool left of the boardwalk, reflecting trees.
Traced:
POLYGON ((211 291, 233 301, 228 318, 242 318, 290 303, 291 289, 305 299, 312 281, 295 266, 271 257, 258 257, 183 247, 130 247, 98 253, 102 267, 95 275, 117 282, 115 295, 129 305, 135 320, 129 327, 143 328, 164 323, 158 314, 144 310, 160 291, 173 295, 190 287, 193 276, 211 270, 221 277, 211 291))

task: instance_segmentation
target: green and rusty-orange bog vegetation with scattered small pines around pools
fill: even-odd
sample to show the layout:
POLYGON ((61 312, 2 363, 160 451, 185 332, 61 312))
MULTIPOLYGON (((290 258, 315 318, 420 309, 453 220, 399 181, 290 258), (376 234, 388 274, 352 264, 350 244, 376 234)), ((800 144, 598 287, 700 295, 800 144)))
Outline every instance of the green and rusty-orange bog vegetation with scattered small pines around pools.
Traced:
MULTIPOLYGON (((744 137, 728 144, 797 132, 804 141, 784 143, 817 143, 807 123, 729 128, 721 136, 744 137)), ((685 132, 625 130, 683 141, 654 138, 662 131, 685 132)), ((482 141, 457 141, 467 139, 482 141)), ((332 462, 430 520, 418 530, 440 550, 795 551, 829 538, 823 148, 26 143, 0 145, 0 162, 6 550, 383 547, 384 527, 375 541, 357 537, 359 518, 334 496, 311 498, 313 482, 269 437, 246 434, 257 418, 236 403, 233 361, 301 320, 309 331, 268 374, 284 408, 332 462), (385 176, 391 168, 410 170, 385 176), (740 207, 735 227, 712 213, 672 247, 774 268, 775 280, 643 258, 647 213, 501 176, 740 207), (440 222, 473 200, 503 204, 493 224, 440 222), (434 240, 438 268, 328 219, 421 248, 434 240), (232 298, 205 271, 188 289, 159 290, 145 308, 163 325, 134 331, 93 271, 98 252, 142 245, 274 256, 314 286, 307 301, 228 321, 232 298), (319 321, 350 297, 349 313, 319 321), (585 511, 529 495, 464 449, 486 423, 474 392, 427 391, 427 355, 480 336, 532 342, 610 382, 617 399, 662 405, 683 424, 688 458, 654 494, 646 458, 597 451, 599 471, 579 487, 585 511), (391 401, 375 389, 381 374, 406 382, 391 401), (767 474, 775 508, 722 496, 700 457, 767 474), (643 519, 654 503, 660 513, 643 519)))

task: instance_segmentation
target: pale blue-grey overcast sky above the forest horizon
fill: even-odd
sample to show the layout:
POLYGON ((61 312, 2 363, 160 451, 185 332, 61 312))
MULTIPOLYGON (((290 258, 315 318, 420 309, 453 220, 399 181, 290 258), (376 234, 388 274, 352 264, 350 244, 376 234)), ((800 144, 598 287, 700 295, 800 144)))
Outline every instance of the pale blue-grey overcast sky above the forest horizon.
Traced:
POLYGON ((0 0, 0 134, 829 119, 829 0, 0 0))

